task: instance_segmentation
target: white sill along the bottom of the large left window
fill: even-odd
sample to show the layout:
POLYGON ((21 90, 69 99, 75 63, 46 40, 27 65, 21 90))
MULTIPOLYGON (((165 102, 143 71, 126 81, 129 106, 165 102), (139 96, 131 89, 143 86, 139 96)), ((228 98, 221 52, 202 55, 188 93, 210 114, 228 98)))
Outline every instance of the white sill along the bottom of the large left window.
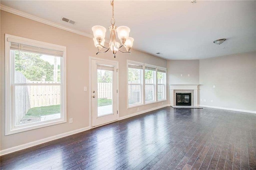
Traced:
POLYGON ((56 120, 43 122, 43 123, 36 124, 36 125, 30 124, 30 125, 26 125, 26 126, 22 126, 22 127, 14 127, 9 132, 6 131, 5 136, 10 135, 10 134, 25 132, 25 131, 33 130, 33 129, 37 129, 37 128, 48 127, 48 126, 52 126, 52 125, 58 125, 58 124, 61 124, 61 123, 66 123, 66 122, 67 121, 64 120, 64 119, 56 119, 56 120))

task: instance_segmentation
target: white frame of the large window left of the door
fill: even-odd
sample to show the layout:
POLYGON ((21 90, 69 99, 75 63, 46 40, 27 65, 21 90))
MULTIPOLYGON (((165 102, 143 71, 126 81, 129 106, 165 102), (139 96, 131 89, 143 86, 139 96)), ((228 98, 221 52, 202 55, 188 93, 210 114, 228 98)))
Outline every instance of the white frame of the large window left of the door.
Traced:
MULTIPOLYGON (((25 83, 24 85, 28 85, 25 83)), ((46 84, 44 84, 46 85, 46 84)), ((52 43, 46 43, 46 42, 40 42, 36 40, 31 40, 28 38, 22 38, 18 36, 12 36, 9 34, 5 34, 5 135, 15 134, 19 132, 24 132, 27 130, 32 130, 36 128, 42 128, 42 127, 48 127, 52 125, 57 125, 60 123, 66 123, 67 122, 67 112, 66 112, 66 47, 61 45, 55 45, 52 43), (51 121, 43 121, 43 122, 37 122, 37 123, 30 123, 25 125, 16 126, 14 124, 14 119, 12 117, 15 117, 14 109, 12 109, 12 103, 14 102, 14 97, 12 96, 12 89, 13 89, 13 81, 12 81, 12 65, 14 65, 14 61, 11 59, 11 53, 10 53, 10 42, 15 43, 22 43, 26 45, 32 45, 36 47, 42 47, 42 48, 48 48, 48 49, 54 49, 58 51, 63 51, 63 57, 61 59, 61 82, 56 85, 60 85, 60 110, 61 110, 61 118, 60 119, 54 119, 51 121)))

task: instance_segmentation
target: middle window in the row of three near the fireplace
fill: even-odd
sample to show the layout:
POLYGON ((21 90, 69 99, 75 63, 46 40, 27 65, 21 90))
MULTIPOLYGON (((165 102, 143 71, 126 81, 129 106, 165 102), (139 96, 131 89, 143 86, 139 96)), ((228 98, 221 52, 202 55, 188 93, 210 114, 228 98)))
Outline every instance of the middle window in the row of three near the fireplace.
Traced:
POLYGON ((145 66, 145 103, 152 103, 156 101, 156 67, 145 66))

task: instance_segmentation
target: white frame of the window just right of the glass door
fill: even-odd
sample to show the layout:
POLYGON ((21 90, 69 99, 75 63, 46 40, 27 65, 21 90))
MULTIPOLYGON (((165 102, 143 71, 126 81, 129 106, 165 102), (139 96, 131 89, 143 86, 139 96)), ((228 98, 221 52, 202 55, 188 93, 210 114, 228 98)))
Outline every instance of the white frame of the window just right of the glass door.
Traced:
POLYGON ((140 63, 140 62, 137 62, 137 61, 131 61, 131 60, 127 60, 127 77, 126 77, 126 80, 127 80, 127 108, 133 108, 133 107, 138 107, 138 106, 142 106, 144 105, 144 63, 140 63), (129 84, 128 84, 128 76, 129 76, 129 64, 134 64, 134 65, 142 65, 142 74, 140 75, 140 79, 142 80, 142 83, 141 84, 132 84, 132 85, 140 85, 140 88, 141 88, 141 103, 138 103, 138 104, 132 104, 132 105, 129 105, 129 84))

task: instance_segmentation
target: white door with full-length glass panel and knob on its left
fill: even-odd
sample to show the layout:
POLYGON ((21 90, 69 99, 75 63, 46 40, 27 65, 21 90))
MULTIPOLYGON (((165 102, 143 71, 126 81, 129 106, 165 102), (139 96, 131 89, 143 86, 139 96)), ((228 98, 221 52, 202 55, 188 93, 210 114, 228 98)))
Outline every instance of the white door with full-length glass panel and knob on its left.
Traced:
POLYGON ((91 60, 92 127, 118 119, 118 63, 91 60))

